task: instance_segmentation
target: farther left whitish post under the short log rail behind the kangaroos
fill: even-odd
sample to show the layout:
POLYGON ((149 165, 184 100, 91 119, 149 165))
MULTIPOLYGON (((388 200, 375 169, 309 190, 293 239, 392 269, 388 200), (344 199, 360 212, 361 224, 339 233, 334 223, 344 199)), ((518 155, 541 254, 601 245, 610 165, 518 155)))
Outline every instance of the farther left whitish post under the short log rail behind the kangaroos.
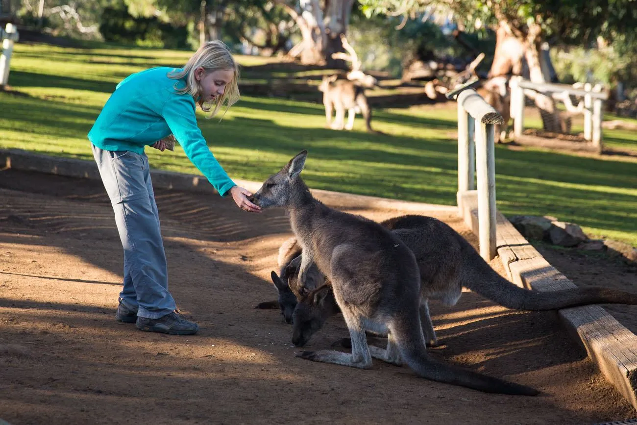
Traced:
POLYGON ((475 120, 458 104, 458 193, 456 201, 462 215, 462 194, 475 189, 475 120))

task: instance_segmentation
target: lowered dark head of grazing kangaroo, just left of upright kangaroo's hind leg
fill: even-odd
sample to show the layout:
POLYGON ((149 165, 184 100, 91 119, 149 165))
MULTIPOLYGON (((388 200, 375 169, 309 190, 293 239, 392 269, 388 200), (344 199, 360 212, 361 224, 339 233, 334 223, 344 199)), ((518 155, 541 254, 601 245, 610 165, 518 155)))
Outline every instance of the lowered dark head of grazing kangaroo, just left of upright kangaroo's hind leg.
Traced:
POLYGON ((296 347, 308 343, 327 319, 339 311, 330 285, 322 285, 314 291, 303 289, 303 292, 303 298, 294 308, 292 321, 292 343, 296 347))

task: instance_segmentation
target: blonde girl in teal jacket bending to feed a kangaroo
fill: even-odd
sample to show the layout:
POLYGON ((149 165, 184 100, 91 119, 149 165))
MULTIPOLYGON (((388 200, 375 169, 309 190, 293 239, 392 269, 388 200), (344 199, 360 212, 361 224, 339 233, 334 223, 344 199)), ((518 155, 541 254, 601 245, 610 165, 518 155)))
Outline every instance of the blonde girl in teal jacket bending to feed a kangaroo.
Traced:
POLYGON ((144 147, 166 148, 173 134, 187 157, 221 196, 241 209, 261 212, 252 194, 234 184, 208 149, 195 117, 196 104, 215 115, 239 98, 238 66, 221 41, 210 41, 182 69, 152 68, 117 85, 90 130, 93 155, 115 211, 124 246, 124 289, 115 317, 142 331, 192 335, 199 326, 176 312, 159 213, 144 147), (157 141, 159 140, 159 141, 157 141))

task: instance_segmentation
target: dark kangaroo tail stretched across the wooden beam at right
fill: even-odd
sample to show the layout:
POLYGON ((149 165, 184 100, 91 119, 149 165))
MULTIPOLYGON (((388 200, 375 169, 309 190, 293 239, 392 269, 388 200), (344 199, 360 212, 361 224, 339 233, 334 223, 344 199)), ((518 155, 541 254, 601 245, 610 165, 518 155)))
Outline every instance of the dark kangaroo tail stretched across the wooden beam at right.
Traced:
POLYGON ((556 310, 589 304, 637 305, 637 294, 603 287, 529 291, 498 275, 475 250, 467 257, 462 264, 462 286, 507 308, 556 310))

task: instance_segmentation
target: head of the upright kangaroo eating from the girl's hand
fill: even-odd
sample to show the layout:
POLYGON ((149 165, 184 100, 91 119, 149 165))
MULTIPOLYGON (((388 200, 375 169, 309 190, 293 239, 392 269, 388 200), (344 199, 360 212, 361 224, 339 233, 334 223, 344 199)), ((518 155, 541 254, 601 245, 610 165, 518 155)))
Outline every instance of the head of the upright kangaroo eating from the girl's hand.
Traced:
POLYGON ((261 185, 250 201, 261 208, 289 205, 295 193, 295 186, 304 185, 299 175, 307 157, 308 151, 303 150, 290 159, 290 162, 281 171, 268 177, 268 180, 261 185))

